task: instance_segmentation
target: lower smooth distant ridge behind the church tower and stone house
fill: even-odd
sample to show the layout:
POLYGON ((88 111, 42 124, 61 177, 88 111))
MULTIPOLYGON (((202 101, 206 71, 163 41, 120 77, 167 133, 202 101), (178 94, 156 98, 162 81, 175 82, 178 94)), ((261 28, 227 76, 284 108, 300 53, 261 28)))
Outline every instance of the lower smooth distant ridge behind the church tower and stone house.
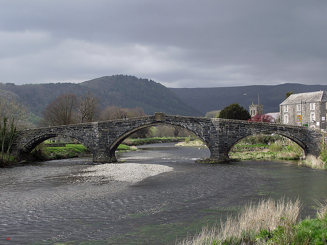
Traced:
POLYGON ((240 87, 220 88, 171 88, 179 98, 192 107, 199 110, 202 115, 206 112, 221 110, 232 103, 239 103, 249 110, 249 104, 264 105, 264 113, 279 112, 279 104, 285 100, 285 93, 293 91, 296 93, 314 92, 327 90, 327 85, 253 85, 240 87))

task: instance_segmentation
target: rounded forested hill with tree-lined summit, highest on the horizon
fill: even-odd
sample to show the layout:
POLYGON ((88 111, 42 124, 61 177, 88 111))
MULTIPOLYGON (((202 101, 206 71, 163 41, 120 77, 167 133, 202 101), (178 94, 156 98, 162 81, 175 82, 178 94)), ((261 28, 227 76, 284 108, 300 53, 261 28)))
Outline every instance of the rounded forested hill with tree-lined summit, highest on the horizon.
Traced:
POLYGON ((183 116, 201 115, 170 89, 149 79, 113 75, 84 81, 80 85, 97 93, 104 107, 112 104, 128 108, 139 106, 148 115, 155 112, 183 116))

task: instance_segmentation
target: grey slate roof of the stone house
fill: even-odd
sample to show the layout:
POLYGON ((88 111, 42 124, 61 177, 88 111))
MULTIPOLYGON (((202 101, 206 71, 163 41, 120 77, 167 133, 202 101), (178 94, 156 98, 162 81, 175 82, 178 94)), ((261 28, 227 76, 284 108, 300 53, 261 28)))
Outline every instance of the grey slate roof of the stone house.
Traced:
POLYGON ((326 102, 327 91, 308 92, 300 94, 291 94, 286 100, 279 105, 284 104, 299 104, 303 102, 326 102))

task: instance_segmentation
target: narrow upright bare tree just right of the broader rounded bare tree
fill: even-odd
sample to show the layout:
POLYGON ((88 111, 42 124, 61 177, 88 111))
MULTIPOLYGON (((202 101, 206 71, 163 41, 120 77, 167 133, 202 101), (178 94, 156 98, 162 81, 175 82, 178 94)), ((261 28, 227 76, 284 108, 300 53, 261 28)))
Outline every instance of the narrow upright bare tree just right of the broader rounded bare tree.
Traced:
POLYGON ((78 111, 81 116, 81 123, 84 119, 87 122, 92 122, 99 113, 99 103, 100 99, 92 95, 89 90, 86 95, 80 97, 78 111))

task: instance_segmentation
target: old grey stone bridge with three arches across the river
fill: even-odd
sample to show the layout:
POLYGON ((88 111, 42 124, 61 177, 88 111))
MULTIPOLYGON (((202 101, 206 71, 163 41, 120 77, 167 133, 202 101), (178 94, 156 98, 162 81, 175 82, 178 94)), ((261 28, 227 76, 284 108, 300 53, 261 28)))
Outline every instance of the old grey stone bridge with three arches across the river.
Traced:
POLYGON ((156 125, 177 125, 192 131, 209 148, 211 160, 217 162, 228 161, 230 149, 251 135, 281 134, 297 143, 305 155, 315 156, 319 155, 323 140, 320 130, 308 127, 155 113, 145 117, 27 129, 14 146, 13 154, 22 160, 43 141, 64 136, 80 141, 93 154, 94 162, 116 162, 115 150, 126 138, 139 129, 156 125))

